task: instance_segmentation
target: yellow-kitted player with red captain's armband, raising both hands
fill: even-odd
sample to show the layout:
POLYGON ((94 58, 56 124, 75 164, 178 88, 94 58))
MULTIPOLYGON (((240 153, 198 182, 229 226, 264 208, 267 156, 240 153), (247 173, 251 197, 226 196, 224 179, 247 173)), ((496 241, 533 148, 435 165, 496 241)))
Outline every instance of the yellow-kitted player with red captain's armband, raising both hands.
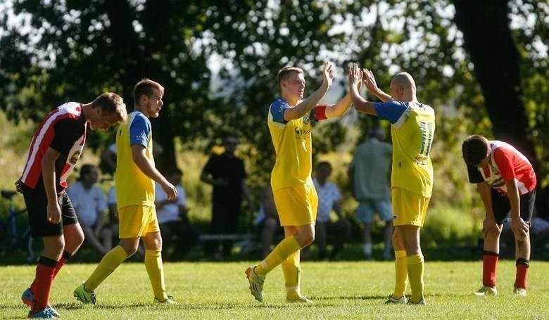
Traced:
POLYGON ((334 105, 317 105, 332 86, 332 64, 322 67, 322 85, 303 99, 305 77, 300 68, 286 67, 278 72, 281 97, 271 103, 267 115, 277 159, 272 169, 274 203, 284 227, 285 238, 265 260, 246 270, 252 295, 263 301, 265 275, 282 264, 286 300, 312 303, 301 295, 299 255, 301 248, 315 240, 318 198, 311 178, 311 121, 339 117, 351 106, 347 95, 334 105))

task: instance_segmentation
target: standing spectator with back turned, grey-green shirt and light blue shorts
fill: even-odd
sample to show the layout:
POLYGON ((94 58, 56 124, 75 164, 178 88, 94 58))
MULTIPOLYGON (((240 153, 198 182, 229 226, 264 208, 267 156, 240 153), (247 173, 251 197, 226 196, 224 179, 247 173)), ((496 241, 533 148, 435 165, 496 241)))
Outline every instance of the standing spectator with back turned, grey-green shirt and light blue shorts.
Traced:
POLYGON ((391 168, 391 143, 384 142, 385 132, 374 127, 368 132, 369 139, 356 148, 348 169, 349 183, 353 197, 358 201, 357 219, 362 222, 362 252, 372 260, 372 222, 374 214, 385 222, 383 259, 392 260, 391 234, 393 233, 393 211, 389 187, 391 168))

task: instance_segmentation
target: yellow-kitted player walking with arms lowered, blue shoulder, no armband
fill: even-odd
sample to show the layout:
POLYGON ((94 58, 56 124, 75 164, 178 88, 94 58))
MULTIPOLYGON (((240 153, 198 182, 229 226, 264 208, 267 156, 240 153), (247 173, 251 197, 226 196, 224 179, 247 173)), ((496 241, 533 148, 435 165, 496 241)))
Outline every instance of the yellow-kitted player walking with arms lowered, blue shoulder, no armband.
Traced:
POLYGON ((150 79, 134 87, 134 111, 116 134, 115 190, 120 221, 120 243, 107 252, 95 271, 76 288, 75 297, 84 303, 95 303, 94 290, 115 269, 137 251, 139 238, 145 243, 145 268, 153 287, 154 302, 173 304, 166 294, 162 264, 162 237, 156 219, 154 182, 158 182, 168 199, 177 196, 175 186, 155 167, 149 117, 158 117, 164 88, 150 79))

